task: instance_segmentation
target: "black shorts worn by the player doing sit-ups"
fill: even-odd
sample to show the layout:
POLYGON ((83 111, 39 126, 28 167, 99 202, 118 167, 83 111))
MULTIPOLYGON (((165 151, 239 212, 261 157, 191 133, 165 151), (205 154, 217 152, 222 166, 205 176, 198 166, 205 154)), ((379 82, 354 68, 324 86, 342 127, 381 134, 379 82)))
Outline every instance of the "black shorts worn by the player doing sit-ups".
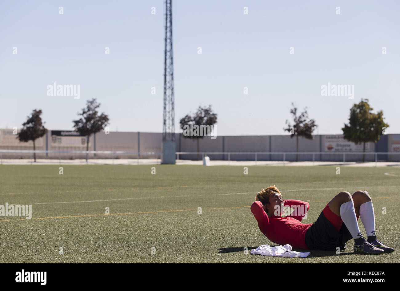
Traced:
POLYGON ((337 215, 328 208, 328 205, 326 205, 324 211, 321 212, 316 222, 314 222, 306 232, 304 240, 307 247, 309 249, 324 251, 336 250, 337 247, 340 247, 340 249, 346 249, 346 243, 353 238, 346 225, 342 223, 342 226, 338 231, 333 224, 335 223, 335 217, 333 217, 333 219, 331 218, 331 221, 329 221, 324 213, 328 216, 336 216, 337 226, 337 215))

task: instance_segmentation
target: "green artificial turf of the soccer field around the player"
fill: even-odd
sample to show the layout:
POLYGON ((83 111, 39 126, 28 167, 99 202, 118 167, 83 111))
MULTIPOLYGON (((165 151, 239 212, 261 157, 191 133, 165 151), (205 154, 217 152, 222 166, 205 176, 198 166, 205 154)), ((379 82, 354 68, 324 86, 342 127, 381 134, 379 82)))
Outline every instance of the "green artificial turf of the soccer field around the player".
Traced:
MULTIPOLYGON (((340 167, 336 175, 337 166, 248 166, 244 175, 240 166, 61 166, 63 175, 60 165, 0 166, 0 205, 32 204, 31 220, 0 217, 1 263, 400 262, 399 168, 340 167), (256 193, 271 185, 283 199, 310 201, 303 223, 313 223, 340 191, 368 191, 378 239, 395 252, 354 255, 349 241, 340 255, 313 250, 307 258, 251 255, 260 245, 276 245, 250 212, 256 193)), ((359 225, 365 233, 360 220, 359 225)))

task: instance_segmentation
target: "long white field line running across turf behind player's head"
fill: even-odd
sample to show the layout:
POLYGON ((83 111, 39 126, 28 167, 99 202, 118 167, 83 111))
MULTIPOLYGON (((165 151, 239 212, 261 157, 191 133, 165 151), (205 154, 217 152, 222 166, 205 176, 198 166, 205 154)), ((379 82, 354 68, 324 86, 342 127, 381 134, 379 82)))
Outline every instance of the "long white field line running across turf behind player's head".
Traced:
MULTIPOLYGON (((376 187, 358 187, 364 188, 390 188, 400 187, 399 186, 376 186, 376 187)), ((294 192, 294 191, 320 191, 320 190, 342 190, 343 188, 314 188, 314 189, 293 189, 285 190, 282 192, 294 192)), ((225 193, 225 194, 212 194, 212 196, 221 195, 240 195, 240 194, 256 194, 256 192, 240 192, 240 193, 225 193)), ((197 195, 203 196, 203 195, 197 195)), ((90 202, 104 202, 104 201, 122 201, 122 200, 135 200, 135 199, 158 199, 158 198, 176 198, 176 197, 191 197, 190 195, 179 195, 179 196, 158 196, 158 197, 134 197, 134 198, 119 198, 119 199, 102 199, 102 200, 86 200, 86 201, 65 201, 65 202, 40 202, 40 203, 12 203, 12 205, 41 205, 41 204, 64 204, 64 203, 90 203, 90 202)))

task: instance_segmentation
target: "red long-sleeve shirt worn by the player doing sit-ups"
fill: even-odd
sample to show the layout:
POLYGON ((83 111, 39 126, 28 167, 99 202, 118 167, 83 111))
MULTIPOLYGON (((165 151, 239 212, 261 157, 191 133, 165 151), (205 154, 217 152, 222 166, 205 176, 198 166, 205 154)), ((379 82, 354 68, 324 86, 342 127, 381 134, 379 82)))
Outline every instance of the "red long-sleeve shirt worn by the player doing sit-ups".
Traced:
POLYGON ((279 245, 289 244, 293 248, 308 249, 304 237, 312 223, 305 224, 300 221, 304 218, 310 205, 307 202, 294 199, 284 200, 283 202, 285 207, 300 207, 300 209, 302 207, 303 211, 299 211, 300 209, 297 208, 292 214, 286 217, 268 217, 262 207, 261 201, 255 201, 250 209, 258 222, 258 228, 274 243, 279 245))

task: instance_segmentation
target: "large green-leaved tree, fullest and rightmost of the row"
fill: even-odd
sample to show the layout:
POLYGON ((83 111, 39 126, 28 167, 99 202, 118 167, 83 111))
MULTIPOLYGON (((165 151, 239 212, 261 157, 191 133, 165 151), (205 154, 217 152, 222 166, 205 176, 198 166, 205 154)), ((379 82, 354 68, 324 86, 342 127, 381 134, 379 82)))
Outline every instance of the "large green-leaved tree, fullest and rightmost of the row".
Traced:
POLYGON ((389 127, 389 124, 383 121, 382 110, 376 114, 372 113, 372 110, 368 99, 361 99, 360 103, 350 108, 349 123, 345 123, 342 128, 344 139, 355 144, 363 143, 363 162, 365 162, 365 143, 378 142, 380 132, 389 127))

